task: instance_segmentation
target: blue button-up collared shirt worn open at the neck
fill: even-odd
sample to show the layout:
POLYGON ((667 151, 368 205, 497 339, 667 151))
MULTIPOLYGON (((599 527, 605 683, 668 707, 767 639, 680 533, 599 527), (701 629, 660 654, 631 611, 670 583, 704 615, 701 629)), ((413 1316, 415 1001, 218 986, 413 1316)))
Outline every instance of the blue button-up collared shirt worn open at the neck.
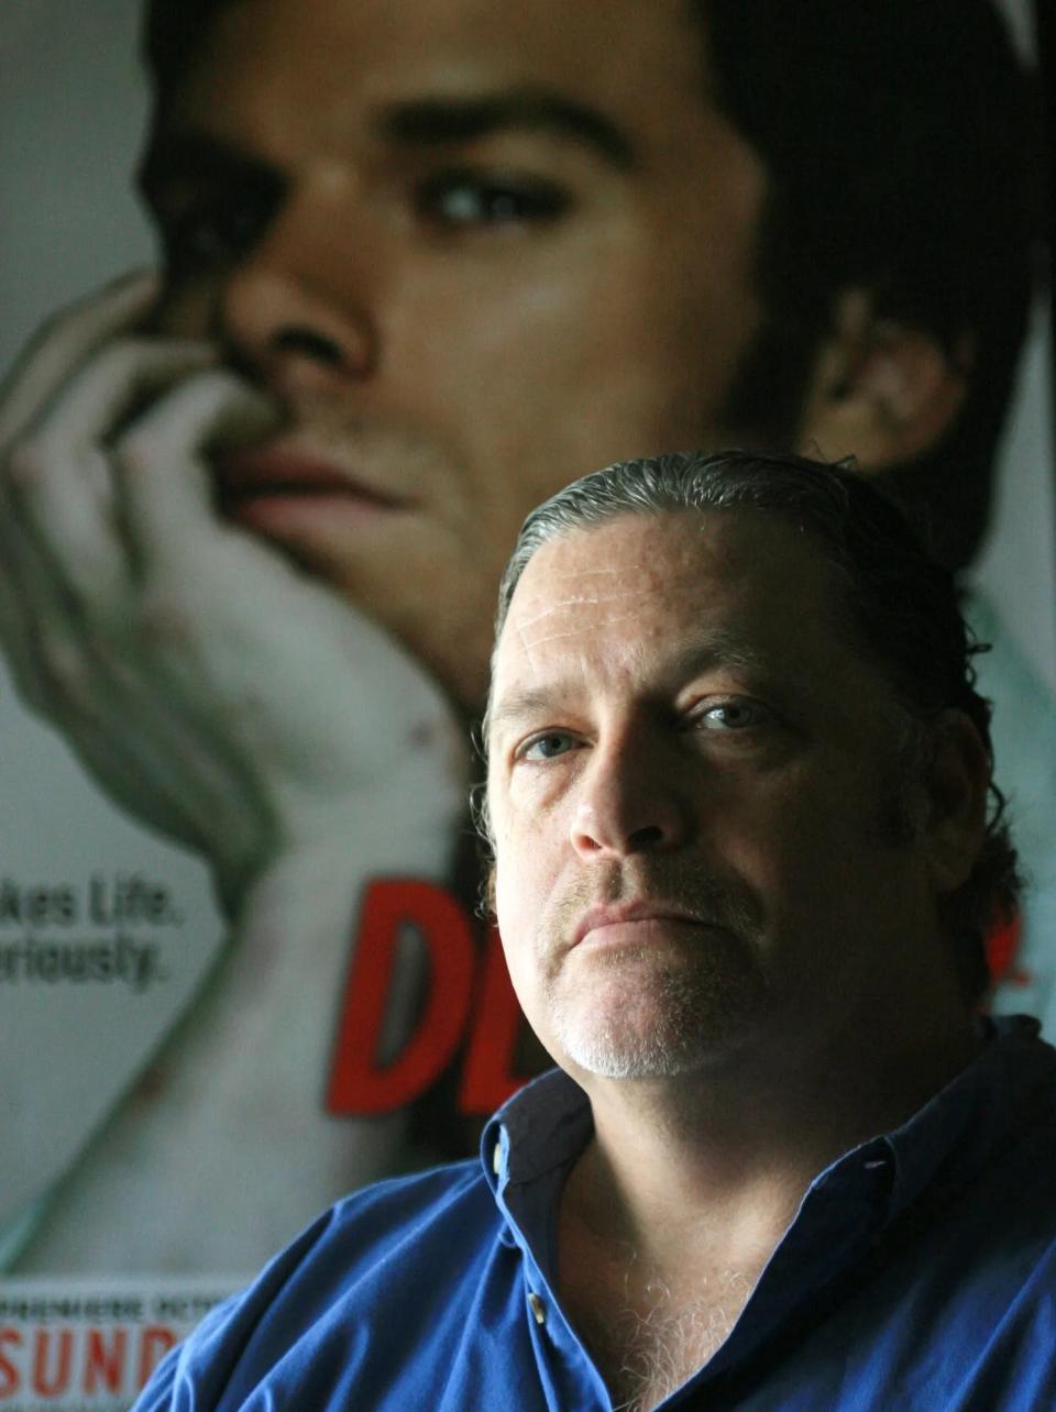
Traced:
MULTIPOLYGON (((340 1202, 168 1356, 137 1412, 611 1412, 555 1293, 558 1199, 590 1130, 555 1070, 496 1114, 480 1162, 340 1202)), ((726 1344, 662 1406, 1053 1412, 1056 1051, 1033 1021, 1000 1021, 905 1127, 815 1179, 726 1344)))

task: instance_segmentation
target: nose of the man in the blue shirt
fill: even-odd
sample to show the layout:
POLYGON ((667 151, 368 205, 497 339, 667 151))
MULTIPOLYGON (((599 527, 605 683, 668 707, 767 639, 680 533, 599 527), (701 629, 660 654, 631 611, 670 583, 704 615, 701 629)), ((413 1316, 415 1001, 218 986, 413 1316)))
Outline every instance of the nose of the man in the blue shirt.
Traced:
POLYGON ((669 751, 635 737, 592 754, 572 815, 572 846, 584 857, 665 851, 685 844, 693 810, 685 770, 669 751))

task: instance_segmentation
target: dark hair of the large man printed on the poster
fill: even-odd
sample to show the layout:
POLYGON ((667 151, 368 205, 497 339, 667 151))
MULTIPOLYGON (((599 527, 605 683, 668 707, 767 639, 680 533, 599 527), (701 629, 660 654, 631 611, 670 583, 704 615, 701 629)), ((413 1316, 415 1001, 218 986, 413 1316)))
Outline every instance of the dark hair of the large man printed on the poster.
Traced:
MULTIPOLYGON (((161 116, 202 32, 236 3, 253 0, 147 0, 161 116)), ((721 421, 760 446, 798 445, 836 301, 864 289, 880 321, 922 330, 964 370, 949 433, 888 473, 960 568, 988 518, 1045 209, 1038 104, 994 0, 683 3, 706 96, 768 175, 764 328, 721 421)))

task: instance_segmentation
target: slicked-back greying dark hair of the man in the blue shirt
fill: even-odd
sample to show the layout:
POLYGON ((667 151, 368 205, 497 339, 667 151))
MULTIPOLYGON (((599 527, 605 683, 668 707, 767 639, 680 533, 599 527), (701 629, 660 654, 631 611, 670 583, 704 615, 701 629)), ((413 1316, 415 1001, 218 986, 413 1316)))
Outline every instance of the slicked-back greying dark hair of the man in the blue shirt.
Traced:
MULTIPOLYGON (((985 648, 964 623, 953 576, 923 549, 901 508, 846 462, 690 452, 617 462, 573 481, 524 522, 500 586, 496 642, 521 575, 545 544, 624 515, 672 513, 762 513, 806 535, 833 570, 834 606, 848 641, 884 672, 912 726, 901 751, 905 770, 919 770, 929 758, 932 731, 953 709, 976 727, 992 771, 991 707, 976 690, 973 666, 985 648)), ((990 984, 985 935, 1018 907, 1004 803, 991 781, 983 850, 968 880, 942 899, 943 928, 970 1004, 990 984)))

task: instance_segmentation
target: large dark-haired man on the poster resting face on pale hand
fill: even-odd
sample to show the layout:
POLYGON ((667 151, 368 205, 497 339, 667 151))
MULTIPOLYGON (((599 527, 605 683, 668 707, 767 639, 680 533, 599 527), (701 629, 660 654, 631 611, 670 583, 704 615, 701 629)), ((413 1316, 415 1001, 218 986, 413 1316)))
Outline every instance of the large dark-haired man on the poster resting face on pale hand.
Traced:
POLYGON ((154 1202, 189 1268, 237 1268, 258 1220, 198 1219, 233 1158, 304 1219, 395 1161, 397 1127, 319 1114, 349 923, 364 880, 450 873, 534 503, 655 445, 854 450, 960 565, 1029 285, 1022 76, 983 3, 157 0, 148 54, 162 281, 13 380, 0 623, 239 945, 37 1271, 114 1227, 143 1268, 154 1202))

